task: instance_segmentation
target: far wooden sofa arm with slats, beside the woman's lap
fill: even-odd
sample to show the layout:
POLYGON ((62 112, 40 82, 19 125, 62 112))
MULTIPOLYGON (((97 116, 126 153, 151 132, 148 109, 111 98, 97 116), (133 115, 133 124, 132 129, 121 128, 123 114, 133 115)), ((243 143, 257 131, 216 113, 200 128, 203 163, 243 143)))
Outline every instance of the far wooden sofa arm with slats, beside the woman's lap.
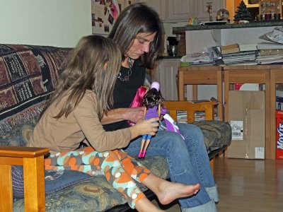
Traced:
POLYGON ((204 111, 205 120, 214 119, 214 105, 218 102, 188 102, 188 101, 165 101, 165 107, 171 117, 177 121, 177 111, 187 111, 187 123, 195 122, 195 112, 204 111))

